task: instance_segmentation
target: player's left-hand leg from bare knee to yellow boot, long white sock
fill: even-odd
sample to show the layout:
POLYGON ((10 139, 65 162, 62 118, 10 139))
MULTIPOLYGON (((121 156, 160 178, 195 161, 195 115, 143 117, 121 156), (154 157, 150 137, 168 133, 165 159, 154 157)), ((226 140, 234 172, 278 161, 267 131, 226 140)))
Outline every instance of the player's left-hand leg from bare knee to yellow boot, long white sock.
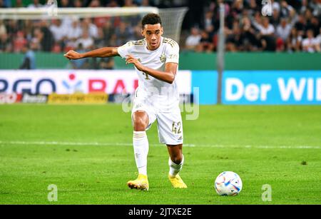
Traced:
POLYGON ((148 122, 148 115, 145 111, 133 113, 133 148, 138 168, 138 178, 128 181, 127 185, 129 188, 140 190, 148 190, 149 188, 147 178, 148 139, 146 136, 148 122))

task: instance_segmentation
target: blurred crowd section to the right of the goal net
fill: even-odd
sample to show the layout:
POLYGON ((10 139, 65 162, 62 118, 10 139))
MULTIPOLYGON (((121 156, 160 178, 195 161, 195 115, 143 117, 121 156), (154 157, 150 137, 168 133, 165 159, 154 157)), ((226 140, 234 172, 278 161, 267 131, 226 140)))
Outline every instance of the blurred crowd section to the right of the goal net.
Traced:
MULTIPOLYGON (((211 1, 200 25, 191 29, 185 48, 215 51, 221 0, 211 1)), ((321 1, 271 1, 271 16, 262 15, 263 1, 224 1, 227 51, 320 52, 321 1)))

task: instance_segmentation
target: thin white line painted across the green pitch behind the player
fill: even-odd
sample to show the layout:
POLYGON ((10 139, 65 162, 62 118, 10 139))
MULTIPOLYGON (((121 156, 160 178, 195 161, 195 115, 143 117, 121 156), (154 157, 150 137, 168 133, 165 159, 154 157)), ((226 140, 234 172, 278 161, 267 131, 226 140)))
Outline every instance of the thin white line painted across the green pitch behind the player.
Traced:
MULTIPOLYGON (((132 143, 99 143, 99 142, 69 142, 69 141, 0 141, 4 145, 57 145, 57 146, 133 146, 132 143)), ((162 144, 150 144, 150 146, 163 146, 162 144)), ((236 146, 236 145, 209 145, 209 144, 183 144, 184 147, 203 148, 266 148, 266 149, 321 149, 321 146, 236 146)))

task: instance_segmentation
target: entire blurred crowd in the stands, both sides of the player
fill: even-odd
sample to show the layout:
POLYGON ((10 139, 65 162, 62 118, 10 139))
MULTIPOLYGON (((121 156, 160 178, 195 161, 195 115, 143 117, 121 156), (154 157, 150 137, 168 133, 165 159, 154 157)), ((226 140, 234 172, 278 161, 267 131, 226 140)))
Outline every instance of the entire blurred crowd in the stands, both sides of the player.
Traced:
MULTIPOLYGON (((225 48, 227 51, 307 51, 320 52, 321 1, 273 1, 272 16, 263 16, 262 0, 61 0, 58 7, 137 7, 170 8, 188 6, 180 39, 181 50, 216 51, 219 4, 225 5, 225 48)), ((0 7, 41 7, 46 1, 0 0, 0 7), (41 4, 42 3, 42 4, 41 4)), ((103 46, 121 46, 141 39, 141 17, 95 19, 52 19, 42 21, 1 20, 0 52, 86 51, 103 46)))

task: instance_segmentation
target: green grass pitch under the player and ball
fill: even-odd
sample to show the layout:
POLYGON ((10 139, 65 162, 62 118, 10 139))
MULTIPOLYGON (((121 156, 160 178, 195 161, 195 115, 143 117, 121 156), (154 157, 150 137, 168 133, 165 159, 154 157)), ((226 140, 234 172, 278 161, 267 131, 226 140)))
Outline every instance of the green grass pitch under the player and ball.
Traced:
POLYGON ((188 189, 171 187, 153 124, 150 190, 131 190, 131 114, 120 105, 2 105, 0 204, 321 204, 321 106, 200 106, 195 121, 183 113, 183 130, 188 189), (240 195, 215 193, 224 170, 242 178, 240 195))

